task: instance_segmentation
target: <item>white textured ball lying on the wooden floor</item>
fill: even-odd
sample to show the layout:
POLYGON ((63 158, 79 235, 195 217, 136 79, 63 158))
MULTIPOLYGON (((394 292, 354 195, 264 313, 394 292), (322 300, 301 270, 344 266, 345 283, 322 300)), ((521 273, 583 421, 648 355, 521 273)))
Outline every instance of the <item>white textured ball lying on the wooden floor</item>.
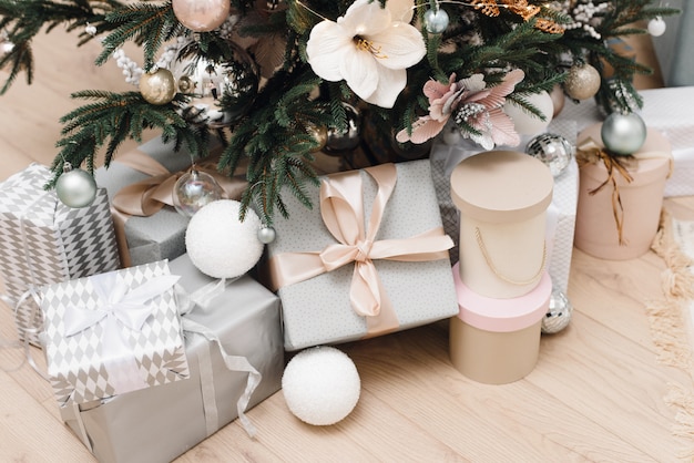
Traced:
POLYGON ((361 381, 346 353, 316 347, 289 360, 282 377, 282 391, 296 418, 320 426, 335 424, 354 410, 361 381))

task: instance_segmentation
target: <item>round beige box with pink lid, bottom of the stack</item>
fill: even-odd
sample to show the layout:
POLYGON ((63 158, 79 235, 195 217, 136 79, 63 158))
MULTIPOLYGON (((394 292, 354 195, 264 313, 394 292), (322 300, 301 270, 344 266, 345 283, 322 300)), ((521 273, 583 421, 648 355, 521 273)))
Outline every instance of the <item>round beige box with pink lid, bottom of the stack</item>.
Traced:
POLYGON ((506 384, 529 374, 538 362, 542 318, 552 281, 545 272, 530 292, 510 299, 472 291, 453 267, 460 312, 450 319, 449 353, 453 367, 471 380, 506 384))

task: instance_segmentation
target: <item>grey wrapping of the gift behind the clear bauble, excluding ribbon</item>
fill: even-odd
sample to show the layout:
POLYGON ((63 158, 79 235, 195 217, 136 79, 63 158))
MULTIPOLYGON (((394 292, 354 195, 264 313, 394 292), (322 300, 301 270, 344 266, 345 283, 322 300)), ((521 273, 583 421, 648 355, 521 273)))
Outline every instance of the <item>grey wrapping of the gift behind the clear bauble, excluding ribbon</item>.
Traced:
MULTIPOLYGON (((144 156, 161 163, 172 173, 191 165, 191 154, 185 150, 174 152, 173 143, 164 144, 153 138, 137 148, 144 156)), ((149 175, 118 162, 119 156, 106 169, 94 173, 96 184, 103 186, 113 198, 124 186, 143 181, 149 175)), ((125 237, 131 265, 136 266, 163 259, 174 259, 185 253, 185 229, 190 218, 166 206, 150 217, 132 216, 125 223, 125 237)))

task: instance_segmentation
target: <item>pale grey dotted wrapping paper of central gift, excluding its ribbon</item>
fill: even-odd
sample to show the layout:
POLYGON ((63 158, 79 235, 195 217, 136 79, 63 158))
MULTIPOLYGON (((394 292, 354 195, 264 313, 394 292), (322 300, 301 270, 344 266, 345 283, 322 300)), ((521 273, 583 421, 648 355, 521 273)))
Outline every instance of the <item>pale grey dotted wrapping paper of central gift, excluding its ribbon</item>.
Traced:
MULTIPOLYGON (((397 183, 388 200, 376 240, 406 239, 440 228, 441 217, 431 183, 429 161, 399 163, 397 183)), ((361 171, 364 217, 368 227, 377 186, 361 171)), ((268 245, 272 258, 283 253, 322 251, 336 243, 322 215, 318 188, 307 188, 314 205, 308 209, 293 195, 284 198, 288 219, 275 222, 277 238, 268 245)), ((395 309, 398 330, 430 323, 458 313, 448 253, 425 261, 374 259, 385 292, 395 309)), ((353 310, 350 285, 354 264, 279 288, 285 349, 354 341, 371 336, 366 317, 353 310)))

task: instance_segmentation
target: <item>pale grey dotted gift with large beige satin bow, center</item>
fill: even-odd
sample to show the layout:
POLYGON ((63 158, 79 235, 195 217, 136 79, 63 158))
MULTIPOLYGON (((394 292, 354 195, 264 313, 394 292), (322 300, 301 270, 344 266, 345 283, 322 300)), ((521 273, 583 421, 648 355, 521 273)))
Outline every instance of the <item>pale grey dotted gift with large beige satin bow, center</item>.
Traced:
POLYGON ((268 245, 285 348, 404 330, 458 312, 428 161, 323 177, 314 208, 286 195, 268 245), (368 219, 367 219, 368 218, 368 219))

